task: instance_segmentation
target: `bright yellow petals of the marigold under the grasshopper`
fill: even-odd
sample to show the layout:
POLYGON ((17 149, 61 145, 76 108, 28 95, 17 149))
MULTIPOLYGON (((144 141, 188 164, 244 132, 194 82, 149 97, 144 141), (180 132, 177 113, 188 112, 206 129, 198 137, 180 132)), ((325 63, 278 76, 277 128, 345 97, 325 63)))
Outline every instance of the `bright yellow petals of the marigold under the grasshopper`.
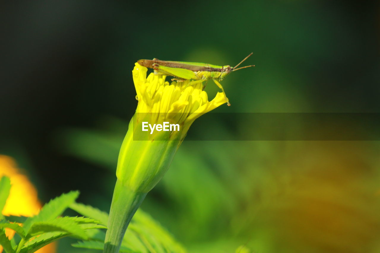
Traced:
POLYGON ((165 81, 166 76, 150 73, 146 77, 146 73, 146 67, 135 63, 132 74, 138 99, 136 113, 150 113, 149 122, 183 125, 186 134, 195 119, 226 103, 222 92, 208 101, 202 82, 195 85, 189 85, 192 80, 169 83, 165 81))

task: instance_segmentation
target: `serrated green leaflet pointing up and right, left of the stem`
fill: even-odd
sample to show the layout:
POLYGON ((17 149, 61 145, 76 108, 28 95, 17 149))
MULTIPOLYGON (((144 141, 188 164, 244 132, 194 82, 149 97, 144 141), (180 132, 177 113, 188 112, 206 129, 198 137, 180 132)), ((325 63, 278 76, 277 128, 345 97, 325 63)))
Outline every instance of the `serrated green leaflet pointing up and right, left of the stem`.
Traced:
POLYGON ((25 231, 28 231, 33 223, 52 220, 61 215, 78 198, 78 195, 79 191, 70 191, 49 201, 49 203, 43 206, 38 215, 30 217, 25 221, 25 231))

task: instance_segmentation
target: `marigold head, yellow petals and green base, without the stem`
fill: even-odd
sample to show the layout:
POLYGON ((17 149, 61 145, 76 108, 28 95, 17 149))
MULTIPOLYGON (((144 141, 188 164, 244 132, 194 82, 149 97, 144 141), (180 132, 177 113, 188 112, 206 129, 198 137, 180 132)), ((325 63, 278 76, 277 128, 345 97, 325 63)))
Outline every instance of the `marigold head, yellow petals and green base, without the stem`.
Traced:
POLYGON ((138 104, 120 149, 116 172, 124 185, 144 193, 165 174, 194 120, 226 103, 221 92, 208 101, 202 83, 189 85, 190 80, 186 80, 169 84, 166 76, 151 73, 146 77, 146 73, 146 67, 135 63, 132 74, 138 104), (179 124, 180 131, 143 133, 144 121, 179 124))

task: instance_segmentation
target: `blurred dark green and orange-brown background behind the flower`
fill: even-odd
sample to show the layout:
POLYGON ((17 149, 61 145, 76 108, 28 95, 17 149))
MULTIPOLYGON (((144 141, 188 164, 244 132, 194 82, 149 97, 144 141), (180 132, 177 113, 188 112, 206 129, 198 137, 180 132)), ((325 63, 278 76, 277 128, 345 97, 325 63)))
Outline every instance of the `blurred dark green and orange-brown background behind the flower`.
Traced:
MULTIPOLYGON (((154 57, 236 65, 253 52, 216 112, 379 112, 379 13, 378 1, 2 3, 0 153, 43 202, 80 190, 108 211, 131 70, 154 57)), ((215 132, 255 134, 218 115, 202 116, 215 132)), ((188 251, 380 252, 378 141, 191 141, 202 129, 141 207, 188 251)), ((71 242, 59 252, 92 252, 71 242)))

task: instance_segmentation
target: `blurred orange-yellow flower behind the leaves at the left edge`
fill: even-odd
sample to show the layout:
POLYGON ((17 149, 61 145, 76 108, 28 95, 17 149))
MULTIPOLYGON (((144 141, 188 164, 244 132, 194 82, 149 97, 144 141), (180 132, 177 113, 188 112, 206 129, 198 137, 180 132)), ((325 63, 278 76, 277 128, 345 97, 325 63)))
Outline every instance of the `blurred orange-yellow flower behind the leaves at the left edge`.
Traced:
MULTIPOLYGON (((15 215, 30 217, 38 214, 41 209, 41 203, 37 198, 37 190, 28 180, 27 176, 22 174, 16 168, 15 161, 6 155, 0 155, 0 178, 3 176, 9 177, 11 180, 11 190, 8 199, 6 200, 3 215, 15 215)), ((14 231, 6 229, 8 238, 14 236, 14 231)), ((0 245, 0 253, 3 247, 0 245)), ((37 250, 36 253, 54 253, 55 243, 46 245, 37 250)))

